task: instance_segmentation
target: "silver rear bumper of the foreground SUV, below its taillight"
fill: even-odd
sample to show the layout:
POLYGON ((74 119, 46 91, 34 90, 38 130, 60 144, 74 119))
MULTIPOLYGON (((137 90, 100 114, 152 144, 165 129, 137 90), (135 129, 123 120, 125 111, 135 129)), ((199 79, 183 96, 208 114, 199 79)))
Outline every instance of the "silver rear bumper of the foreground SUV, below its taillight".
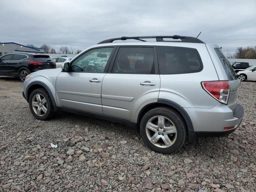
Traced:
POLYGON ((234 132, 242 122, 244 108, 237 105, 233 113, 228 106, 217 104, 213 108, 184 108, 191 118, 194 132, 189 132, 189 141, 197 137, 221 137, 234 132), (234 127, 224 130, 224 127, 234 127))

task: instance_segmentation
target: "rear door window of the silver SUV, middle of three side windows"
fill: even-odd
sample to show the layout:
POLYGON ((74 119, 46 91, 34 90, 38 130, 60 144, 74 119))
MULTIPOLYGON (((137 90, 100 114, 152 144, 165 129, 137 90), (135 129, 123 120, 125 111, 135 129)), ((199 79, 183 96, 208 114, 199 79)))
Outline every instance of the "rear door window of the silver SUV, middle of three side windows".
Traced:
POLYGON ((120 47, 113 73, 154 74, 154 48, 120 47))

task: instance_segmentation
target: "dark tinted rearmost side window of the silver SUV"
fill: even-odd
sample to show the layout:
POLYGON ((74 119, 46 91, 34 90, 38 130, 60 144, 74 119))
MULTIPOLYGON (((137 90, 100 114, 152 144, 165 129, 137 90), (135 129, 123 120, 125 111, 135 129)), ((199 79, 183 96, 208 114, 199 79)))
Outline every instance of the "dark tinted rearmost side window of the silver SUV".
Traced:
POLYGON ((194 48, 158 46, 160 74, 196 73, 203 69, 202 60, 194 48))

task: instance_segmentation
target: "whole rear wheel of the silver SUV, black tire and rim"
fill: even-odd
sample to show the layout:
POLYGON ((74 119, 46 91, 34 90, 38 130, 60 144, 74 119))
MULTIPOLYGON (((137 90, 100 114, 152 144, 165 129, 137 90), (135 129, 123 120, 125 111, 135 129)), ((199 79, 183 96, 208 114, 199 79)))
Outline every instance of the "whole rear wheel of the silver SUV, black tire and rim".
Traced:
POLYGON ((186 140, 186 126, 178 112, 170 108, 154 108, 140 122, 140 134, 153 151, 169 154, 179 150, 186 140))

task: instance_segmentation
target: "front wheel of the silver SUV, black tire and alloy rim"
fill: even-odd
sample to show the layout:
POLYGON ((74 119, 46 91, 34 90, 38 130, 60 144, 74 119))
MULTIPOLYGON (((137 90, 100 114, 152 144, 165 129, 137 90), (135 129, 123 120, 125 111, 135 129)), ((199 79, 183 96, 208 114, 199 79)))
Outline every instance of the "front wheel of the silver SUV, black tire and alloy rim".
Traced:
POLYGON ((39 88, 30 94, 29 108, 33 116, 38 120, 47 120, 53 113, 53 105, 48 92, 39 88))

